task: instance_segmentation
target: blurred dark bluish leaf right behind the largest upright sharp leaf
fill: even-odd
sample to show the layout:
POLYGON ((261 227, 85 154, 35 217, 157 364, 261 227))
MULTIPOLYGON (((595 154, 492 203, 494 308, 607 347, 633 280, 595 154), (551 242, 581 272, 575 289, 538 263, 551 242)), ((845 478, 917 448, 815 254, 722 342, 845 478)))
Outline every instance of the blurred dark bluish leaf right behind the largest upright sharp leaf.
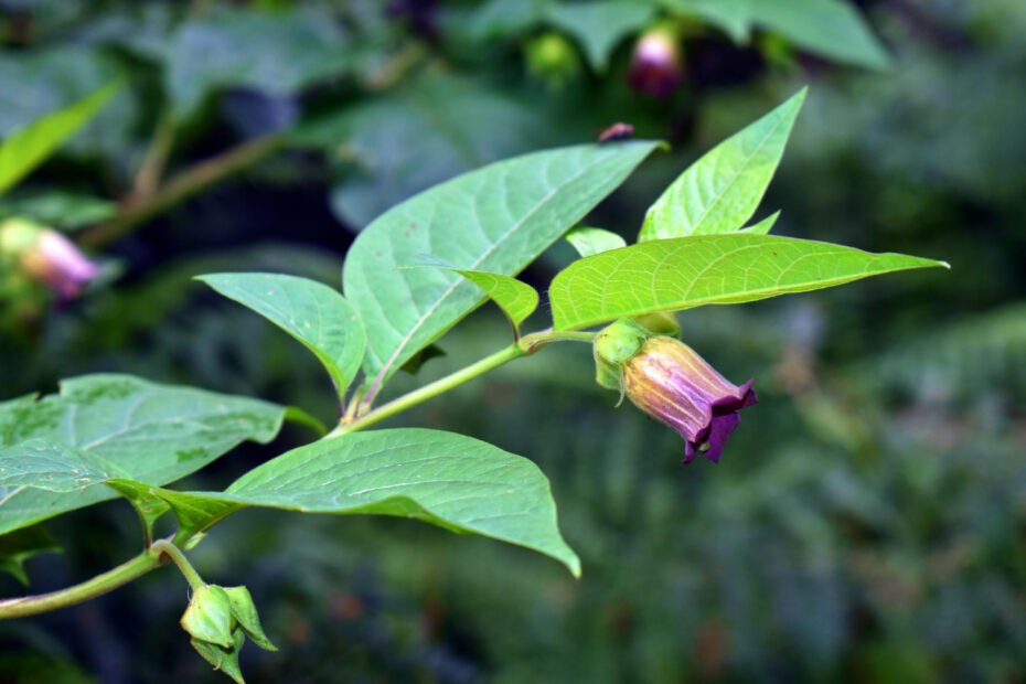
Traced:
POLYGON ((421 190, 544 147, 547 130, 536 103, 430 72, 303 125, 291 141, 330 154, 336 179, 332 210, 362 229, 421 190))

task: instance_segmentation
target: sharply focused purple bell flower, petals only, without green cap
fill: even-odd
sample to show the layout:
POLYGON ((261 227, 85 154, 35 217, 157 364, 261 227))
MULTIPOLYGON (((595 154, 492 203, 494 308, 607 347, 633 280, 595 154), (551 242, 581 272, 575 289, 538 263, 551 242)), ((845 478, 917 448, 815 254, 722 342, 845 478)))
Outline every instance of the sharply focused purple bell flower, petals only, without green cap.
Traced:
POLYGON ((627 396, 684 438, 685 463, 698 453, 719 462, 740 423, 738 412, 758 402, 751 385, 733 384, 693 349, 666 336, 649 339, 623 365, 627 396))

